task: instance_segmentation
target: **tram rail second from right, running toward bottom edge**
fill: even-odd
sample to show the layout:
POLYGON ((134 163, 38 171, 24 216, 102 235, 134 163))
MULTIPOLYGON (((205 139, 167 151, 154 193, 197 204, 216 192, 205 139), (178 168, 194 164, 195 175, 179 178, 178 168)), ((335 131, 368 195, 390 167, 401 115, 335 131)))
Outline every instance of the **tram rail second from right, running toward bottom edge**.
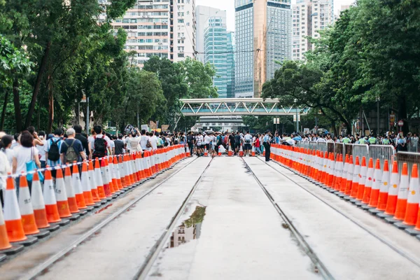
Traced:
MULTIPOLYGON (((257 157, 258 158, 258 157, 257 157)), ((255 179, 255 181, 258 183, 258 186, 262 189, 262 191, 265 193, 267 198, 269 199, 269 202, 272 203, 274 209, 279 213, 281 218, 283 219, 284 223, 286 225, 283 225, 283 228, 288 228, 290 232, 293 234, 293 236, 296 238, 298 244, 302 247, 304 252, 308 255, 311 262, 314 264, 316 269, 318 269, 318 273, 323 276, 323 279, 334 279, 332 274, 328 271, 328 268, 321 262, 320 258, 318 258, 318 255, 314 252, 314 250, 311 248, 311 246, 308 244, 308 242, 305 240, 304 236, 295 228, 295 225, 290 221, 290 218, 284 213, 284 211, 279 207, 279 204, 276 203, 274 200, 272 194, 265 188, 265 186, 261 183, 260 179, 258 179, 258 176, 255 175, 251 167, 248 165, 248 163, 244 160, 244 158, 241 158, 241 160, 246 165, 246 168, 249 172, 251 172, 251 175, 255 179)))

